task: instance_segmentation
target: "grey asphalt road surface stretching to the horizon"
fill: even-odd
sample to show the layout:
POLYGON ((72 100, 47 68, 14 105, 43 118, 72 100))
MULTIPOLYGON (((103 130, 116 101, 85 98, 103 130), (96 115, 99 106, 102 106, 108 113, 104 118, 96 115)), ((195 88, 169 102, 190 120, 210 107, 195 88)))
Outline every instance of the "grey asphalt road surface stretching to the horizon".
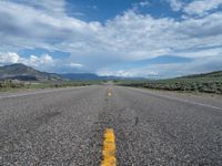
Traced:
POLYGON ((0 165, 221 166, 222 102, 112 85, 0 96, 0 165), (111 95, 108 94, 111 93, 111 95))

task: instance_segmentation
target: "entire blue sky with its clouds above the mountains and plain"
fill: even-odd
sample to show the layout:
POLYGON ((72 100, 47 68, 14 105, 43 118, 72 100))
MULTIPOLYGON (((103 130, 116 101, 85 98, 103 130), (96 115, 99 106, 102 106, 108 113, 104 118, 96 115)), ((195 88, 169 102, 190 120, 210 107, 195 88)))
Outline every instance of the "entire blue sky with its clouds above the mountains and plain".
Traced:
POLYGON ((172 77, 222 70, 222 0, 1 0, 0 65, 172 77))

